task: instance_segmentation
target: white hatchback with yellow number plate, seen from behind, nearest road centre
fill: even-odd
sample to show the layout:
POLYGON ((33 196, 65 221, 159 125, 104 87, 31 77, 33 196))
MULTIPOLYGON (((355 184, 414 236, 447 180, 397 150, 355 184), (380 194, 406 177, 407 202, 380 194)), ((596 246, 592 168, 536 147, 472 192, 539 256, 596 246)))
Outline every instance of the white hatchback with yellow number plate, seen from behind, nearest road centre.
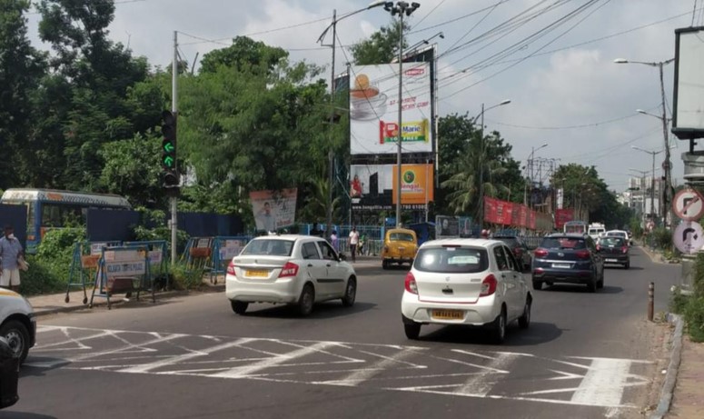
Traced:
POLYGON ((506 324, 530 324, 532 289, 511 250, 500 241, 444 239, 421 245, 406 274, 403 326, 418 339, 421 324, 466 324, 491 328, 501 344, 506 324))

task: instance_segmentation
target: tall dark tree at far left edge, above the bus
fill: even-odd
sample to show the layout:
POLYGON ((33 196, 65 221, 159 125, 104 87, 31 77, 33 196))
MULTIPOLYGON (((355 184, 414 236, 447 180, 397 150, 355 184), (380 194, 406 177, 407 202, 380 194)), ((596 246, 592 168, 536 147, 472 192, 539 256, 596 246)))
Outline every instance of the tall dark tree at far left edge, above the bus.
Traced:
POLYGON ((32 95, 45 71, 45 55, 27 38, 23 16, 30 2, 0 0, 0 138, 5 158, 0 163, 0 188, 31 182, 37 164, 32 141, 32 95))

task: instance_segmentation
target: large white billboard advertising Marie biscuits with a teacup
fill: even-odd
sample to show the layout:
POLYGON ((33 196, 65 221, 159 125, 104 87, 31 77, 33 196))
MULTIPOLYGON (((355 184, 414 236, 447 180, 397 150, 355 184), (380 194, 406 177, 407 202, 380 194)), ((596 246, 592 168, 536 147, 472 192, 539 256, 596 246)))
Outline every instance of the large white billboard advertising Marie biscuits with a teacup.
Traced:
POLYGON ((432 152, 431 67, 404 63, 402 124, 399 127, 398 65, 354 65, 350 80, 350 151, 352 155, 432 152))

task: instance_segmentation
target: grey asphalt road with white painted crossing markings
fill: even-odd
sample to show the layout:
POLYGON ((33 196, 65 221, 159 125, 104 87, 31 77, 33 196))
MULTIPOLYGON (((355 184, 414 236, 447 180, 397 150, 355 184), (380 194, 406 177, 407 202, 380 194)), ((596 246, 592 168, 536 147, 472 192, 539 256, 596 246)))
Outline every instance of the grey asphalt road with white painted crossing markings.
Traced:
POLYGON ((402 330, 405 271, 358 268, 357 304, 233 314, 223 294, 40 319, 21 400, 0 419, 642 417, 659 393, 648 283, 667 308, 679 268, 633 250, 605 288, 536 292, 532 324, 501 346, 481 331, 402 330))

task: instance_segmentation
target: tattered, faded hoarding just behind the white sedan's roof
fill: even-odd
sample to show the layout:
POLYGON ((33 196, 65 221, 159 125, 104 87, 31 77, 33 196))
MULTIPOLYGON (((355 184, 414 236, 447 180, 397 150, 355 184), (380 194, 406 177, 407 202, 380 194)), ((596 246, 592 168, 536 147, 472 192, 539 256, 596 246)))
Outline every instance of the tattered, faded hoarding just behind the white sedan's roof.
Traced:
POLYGON ((295 223, 296 188, 249 193, 257 231, 273 232, 295 223))

